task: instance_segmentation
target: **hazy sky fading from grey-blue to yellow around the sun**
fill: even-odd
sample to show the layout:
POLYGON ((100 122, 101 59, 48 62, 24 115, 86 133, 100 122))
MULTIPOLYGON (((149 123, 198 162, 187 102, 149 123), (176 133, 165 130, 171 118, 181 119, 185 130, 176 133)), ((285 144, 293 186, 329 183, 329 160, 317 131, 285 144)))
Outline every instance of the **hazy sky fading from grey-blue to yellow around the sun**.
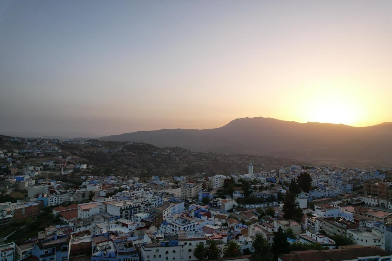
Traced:
POLYGON ((392 121, 392 1, 0 1, 1 132, 392 121))

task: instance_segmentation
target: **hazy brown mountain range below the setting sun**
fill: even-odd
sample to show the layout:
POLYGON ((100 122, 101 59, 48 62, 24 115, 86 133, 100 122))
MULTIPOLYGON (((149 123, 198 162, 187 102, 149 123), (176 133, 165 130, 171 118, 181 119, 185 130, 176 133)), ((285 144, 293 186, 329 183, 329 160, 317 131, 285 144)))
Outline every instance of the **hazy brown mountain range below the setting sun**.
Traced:
POLYGON ((369 127, 240 118, 216 129, 162 129, 99 138, 194 151, 293 159, 383 161, 392 164, 392 122, 369 127))

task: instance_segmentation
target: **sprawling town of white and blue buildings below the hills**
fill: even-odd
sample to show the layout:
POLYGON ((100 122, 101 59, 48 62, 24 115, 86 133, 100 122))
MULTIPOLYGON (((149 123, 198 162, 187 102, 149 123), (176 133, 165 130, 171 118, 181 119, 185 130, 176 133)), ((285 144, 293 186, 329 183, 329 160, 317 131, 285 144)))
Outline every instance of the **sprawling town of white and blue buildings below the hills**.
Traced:
POLYGON ((127 146, 141 144, 7 136, 0 144, 4 261, 392 258, 391 168, 247 162, 236 173, 127 174, 95 155, 134 154, 127 146))

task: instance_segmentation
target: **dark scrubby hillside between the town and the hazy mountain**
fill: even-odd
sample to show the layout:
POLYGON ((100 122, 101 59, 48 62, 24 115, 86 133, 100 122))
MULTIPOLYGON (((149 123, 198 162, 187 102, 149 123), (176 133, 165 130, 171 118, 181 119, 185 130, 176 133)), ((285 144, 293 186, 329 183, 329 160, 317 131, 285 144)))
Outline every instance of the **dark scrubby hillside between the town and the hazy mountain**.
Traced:
POLYGON ((94 165, 92 171, 95 174, 130 174, 142 178, 151 175, 172 177, 197 173, 240 173, 247 171, 249 163, 255 165, 255 170, 259 164, 262 169, 278 169, 299 163, 285 158, 192 152, 179 147, 159 148, 146 143, 104 141, 103 146, 105 151, 89 145, 59 145, 63 152, 94 165))

